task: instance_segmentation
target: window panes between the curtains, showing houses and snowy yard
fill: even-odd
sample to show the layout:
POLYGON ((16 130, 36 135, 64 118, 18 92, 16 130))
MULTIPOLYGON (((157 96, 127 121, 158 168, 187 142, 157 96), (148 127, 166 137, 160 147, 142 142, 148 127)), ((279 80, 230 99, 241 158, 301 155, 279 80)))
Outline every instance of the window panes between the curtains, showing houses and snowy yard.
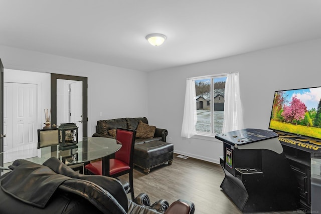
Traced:
POLYGON ((226 76, 195 78, 197 123, 199 134, 221 133, 224 120, 226 76))

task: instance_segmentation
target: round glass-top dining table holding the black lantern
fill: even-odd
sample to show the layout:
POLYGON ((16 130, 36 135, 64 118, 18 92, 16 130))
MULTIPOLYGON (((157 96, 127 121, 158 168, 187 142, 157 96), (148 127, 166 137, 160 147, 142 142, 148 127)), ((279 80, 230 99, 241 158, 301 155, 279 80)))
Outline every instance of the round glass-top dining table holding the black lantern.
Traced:
MULTIPOLYGON (((103 175, 109 175, 109 156, 120 148, 121 143, 112 138, 83 137, 82 141, 78 141, 75 145, 68 147, 49 146, 42 148, 41 155, 37 157, 19 158, 18 155, 17 159, 42 164, 50 157, 57 157, 63 163, 72 166, 102 158, 103 175)), ((17 148, 3 152, 3 155, 15 155, 14 152, 17 153, 17 148)))

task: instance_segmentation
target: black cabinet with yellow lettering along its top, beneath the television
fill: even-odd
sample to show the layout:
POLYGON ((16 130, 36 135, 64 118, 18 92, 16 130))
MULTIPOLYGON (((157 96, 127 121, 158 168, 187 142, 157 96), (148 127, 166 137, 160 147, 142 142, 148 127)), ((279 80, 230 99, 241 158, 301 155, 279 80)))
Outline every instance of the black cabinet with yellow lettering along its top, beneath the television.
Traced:
POLYGON ((285 157, 299 184, 300 205, 306 210, 321 210, 321 142, 302 136, 279 134, 285 157))

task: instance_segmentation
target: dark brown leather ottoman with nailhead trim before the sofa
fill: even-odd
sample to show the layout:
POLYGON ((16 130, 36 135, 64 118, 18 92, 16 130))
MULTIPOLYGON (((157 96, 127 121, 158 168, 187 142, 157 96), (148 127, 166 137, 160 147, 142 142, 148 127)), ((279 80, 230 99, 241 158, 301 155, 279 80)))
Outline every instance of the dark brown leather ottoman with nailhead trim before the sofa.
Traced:
POLYGON ((168 162, 173 162, 174 145, 164 141, 151 141, 148 143, 137 144, 134 147, 133 163, 135 166, 144 170, 145 174, 151 168, 168 162))

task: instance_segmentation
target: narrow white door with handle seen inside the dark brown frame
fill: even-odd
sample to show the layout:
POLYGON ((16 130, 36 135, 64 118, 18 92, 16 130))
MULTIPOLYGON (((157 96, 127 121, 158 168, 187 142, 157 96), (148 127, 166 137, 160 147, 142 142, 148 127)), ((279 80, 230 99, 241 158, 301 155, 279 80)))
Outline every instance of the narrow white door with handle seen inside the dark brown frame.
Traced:
POLYGON ((82 82, 75 81, 69 84, 69 97, 70 97, 70 122, 75 123, 78 127, 78 139, 82 139, 82 82))

